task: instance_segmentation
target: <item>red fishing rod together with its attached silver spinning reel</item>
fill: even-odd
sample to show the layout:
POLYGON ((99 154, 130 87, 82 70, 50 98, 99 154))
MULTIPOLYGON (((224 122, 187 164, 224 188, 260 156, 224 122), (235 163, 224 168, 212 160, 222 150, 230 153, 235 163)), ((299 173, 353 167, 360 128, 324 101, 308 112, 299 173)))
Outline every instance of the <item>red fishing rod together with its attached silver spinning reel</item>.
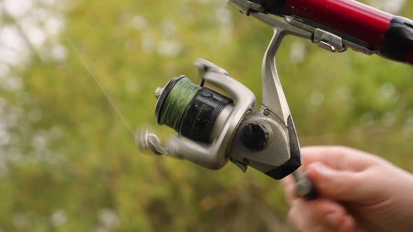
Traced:
POLYGON ((348 48, 366 55, 413 64, 413 22, 352 0, 228 0, 245 15, 274 30, 262 61, 262 103, 254 111, 255 95, 223 68, 197 59, 200 85, 185 76, 173 78, 155 91, 155 116, 179 133, 164 147, 150 129, 135 134, 137 145, 161 156, 186 159, 218 170, 228 161, 248 166, 276 180, 293 175, 297 195, 318 197, 311 181, 297 170, 300 144, 283 93, 275 56, 287 35, 306 38, 329 52, 348 48), (208 83, 224 94, 204 87, 208 83))

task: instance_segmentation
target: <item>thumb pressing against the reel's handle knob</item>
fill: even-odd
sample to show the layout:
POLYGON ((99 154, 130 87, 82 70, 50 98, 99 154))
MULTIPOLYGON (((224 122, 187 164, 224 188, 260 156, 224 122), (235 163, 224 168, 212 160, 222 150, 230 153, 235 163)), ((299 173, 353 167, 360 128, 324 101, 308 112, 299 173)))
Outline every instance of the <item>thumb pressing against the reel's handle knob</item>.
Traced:
POLYGON ((363 184, 358 173, 342 171, 316 162, 307 166, 307 176, 321 196, 337 201, 360 201, 363 184))

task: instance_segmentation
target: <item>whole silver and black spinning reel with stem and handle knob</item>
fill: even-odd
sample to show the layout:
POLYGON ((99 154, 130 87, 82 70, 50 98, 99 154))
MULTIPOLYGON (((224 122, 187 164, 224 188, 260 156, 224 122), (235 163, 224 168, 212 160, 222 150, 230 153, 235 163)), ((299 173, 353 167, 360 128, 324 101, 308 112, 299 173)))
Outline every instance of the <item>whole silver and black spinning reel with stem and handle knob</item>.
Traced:
POLYGON ((158 124, 171 127, 179 135, 163 147, 155 133, 141 129, 136 135, 137 144, 155 154, 186 159, 211 170, 232 161, 241 171, 251 166, 276 180, 292 174, 297 195, 316 198, 311 182, 297 171, 301 166, 300 144, 275 66, 275 55, 284 36, 311 37, 311 33, 285 22, 280 24, 264 13, 257 13, 256 17, 274 28, 262 64, 259 110, 254 112, 255 95, 248 87, 223 68, 197 59, 200 85, 181 76, 156 90, 158 124), (223 94, 204 87, 206 83, 222 89, 223 94))

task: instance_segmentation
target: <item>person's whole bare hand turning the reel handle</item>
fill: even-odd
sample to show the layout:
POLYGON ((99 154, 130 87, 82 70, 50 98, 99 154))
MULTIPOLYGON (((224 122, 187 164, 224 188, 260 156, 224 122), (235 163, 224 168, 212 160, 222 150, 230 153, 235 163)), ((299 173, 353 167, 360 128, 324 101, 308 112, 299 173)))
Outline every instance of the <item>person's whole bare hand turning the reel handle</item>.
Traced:
POLYGON ((292 177, 283 180, 288 219, 300 231, 413 231, 412 174, 348 147, 304 147, 302 159, 321 196, 298 198, 292 177))

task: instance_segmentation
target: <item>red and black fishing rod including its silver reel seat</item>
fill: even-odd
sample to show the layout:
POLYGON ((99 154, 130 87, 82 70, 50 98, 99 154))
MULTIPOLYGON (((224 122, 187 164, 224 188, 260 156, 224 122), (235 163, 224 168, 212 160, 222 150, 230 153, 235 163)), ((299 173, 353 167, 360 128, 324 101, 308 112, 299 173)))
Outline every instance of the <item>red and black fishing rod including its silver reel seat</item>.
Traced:
POLYGON ((330 52, 347 48, 413 64, 413 21, 353 0, 230 0, 242 13, 283 17, 330 52), (254 12, 255 13, 254 13, 254 12))

